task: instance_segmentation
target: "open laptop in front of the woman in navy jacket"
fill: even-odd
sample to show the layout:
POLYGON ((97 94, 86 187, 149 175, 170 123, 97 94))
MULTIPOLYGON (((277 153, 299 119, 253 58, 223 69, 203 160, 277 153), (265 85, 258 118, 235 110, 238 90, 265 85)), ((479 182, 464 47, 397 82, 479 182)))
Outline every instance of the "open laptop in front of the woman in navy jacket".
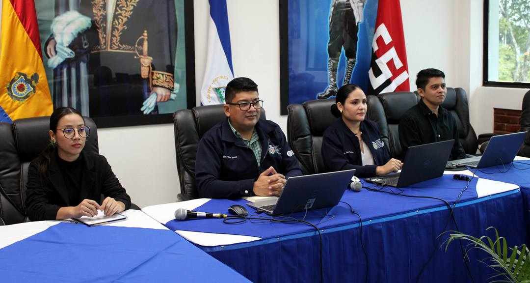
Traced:
POLYGON ((366 178, 381 186, 406 187, 444 175, 445 165, 455 140, 410 147, 400 173, 366 178))

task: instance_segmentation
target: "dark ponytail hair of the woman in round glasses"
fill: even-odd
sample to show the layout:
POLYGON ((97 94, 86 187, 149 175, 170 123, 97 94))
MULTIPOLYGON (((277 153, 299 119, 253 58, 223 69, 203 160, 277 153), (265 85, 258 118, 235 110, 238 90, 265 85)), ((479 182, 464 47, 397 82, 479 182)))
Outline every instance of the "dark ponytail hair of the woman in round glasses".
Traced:
MULTIPOLYGON (((50 116, 50 130, 56 133, 59 120, 68 114, 77 114, 83 118, 83 115, 81 115, 81 113, 75 108, 59 107, 55 109, 54 113, 50 116)), ((83 122, 84 121, 85 119, 83 118, 83 122)), ((50 144, 48 144, 46 148, 42 150, 40 155, 33 160, 37 165, 40 184, 46 191, 50 191, 48 177, 50 175, 50 156, 52 151, 54 151, 54 145, 52 145, 50 141, 50 144)))

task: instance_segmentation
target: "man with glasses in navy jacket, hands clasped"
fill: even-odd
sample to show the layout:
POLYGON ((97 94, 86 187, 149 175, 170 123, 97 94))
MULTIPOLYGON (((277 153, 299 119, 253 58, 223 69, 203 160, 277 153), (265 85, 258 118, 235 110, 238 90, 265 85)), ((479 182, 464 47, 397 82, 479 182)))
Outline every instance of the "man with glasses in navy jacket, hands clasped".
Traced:
POLYGON ((236 78, 226 85, 226 120, 202 136, 195 178, 201 198, 280 195, 288 177, 302 175, 280 126, 260 119, 258 85, 236 78))

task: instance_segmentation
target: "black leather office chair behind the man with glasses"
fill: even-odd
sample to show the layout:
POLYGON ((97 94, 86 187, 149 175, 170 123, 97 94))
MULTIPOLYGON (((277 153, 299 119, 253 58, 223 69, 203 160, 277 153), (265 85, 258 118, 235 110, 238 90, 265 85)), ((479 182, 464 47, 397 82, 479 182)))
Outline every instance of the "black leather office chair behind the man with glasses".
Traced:
MULTIPOLYGON (((261 108, 260 119, 265 118, 265 109, 261 108)), ((199 198, 195 184, 195 159, 199 140, 211 127, 223 119, 226 119, 223 105, 198 106, 191 110, 182 109, 173 113, 176 168, 180 181, 178 201, 199 198)))

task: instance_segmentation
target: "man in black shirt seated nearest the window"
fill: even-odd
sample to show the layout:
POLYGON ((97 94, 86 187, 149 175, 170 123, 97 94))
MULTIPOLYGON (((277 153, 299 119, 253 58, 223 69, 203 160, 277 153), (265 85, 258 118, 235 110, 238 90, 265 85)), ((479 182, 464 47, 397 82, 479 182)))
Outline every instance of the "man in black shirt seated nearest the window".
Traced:
POLYGON ((399 123, 399 140, 404 152, 414 145, 454 139, 449 160, 466 158, 455 118, 441 107, 447 95, 444 72, 433 68, 421 70, 416 86, 421 100, 407 110, 399 123))

